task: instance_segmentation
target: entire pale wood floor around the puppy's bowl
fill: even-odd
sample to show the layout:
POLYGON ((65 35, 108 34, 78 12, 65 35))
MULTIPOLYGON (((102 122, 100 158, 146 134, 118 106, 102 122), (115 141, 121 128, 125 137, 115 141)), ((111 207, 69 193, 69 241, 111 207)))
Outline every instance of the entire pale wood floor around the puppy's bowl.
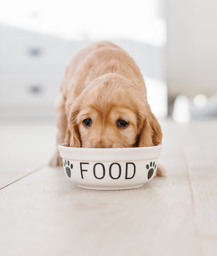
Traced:
POLYGON ((47 166, 54 124, 1 124, 0 255, 216 256, 217 120, 161 124, 167 176, 108 192, 47 166))

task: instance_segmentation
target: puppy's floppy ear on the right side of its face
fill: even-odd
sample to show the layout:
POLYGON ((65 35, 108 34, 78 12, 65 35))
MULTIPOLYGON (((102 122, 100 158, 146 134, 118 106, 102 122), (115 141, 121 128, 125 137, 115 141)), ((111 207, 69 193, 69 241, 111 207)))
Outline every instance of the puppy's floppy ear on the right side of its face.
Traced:
POLYGON ((144 113, 138 118, 140 131, 136 146, 157 146, 162 143, 162 130, 157 118, 151 113, 149 105, 146 105, 144 113))

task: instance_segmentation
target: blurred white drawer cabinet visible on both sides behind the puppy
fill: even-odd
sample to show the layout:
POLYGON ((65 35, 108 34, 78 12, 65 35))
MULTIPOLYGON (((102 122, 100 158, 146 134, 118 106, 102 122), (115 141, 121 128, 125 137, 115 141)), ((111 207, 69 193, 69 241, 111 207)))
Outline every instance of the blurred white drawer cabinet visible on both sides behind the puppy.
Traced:
MULTIPOLYGON (((71 41, 0 24, 0 116, 53 114, 66 65, 92 41, 71 41)), ((146 80, 148 100, 158 118, 167 115, 165 48, 113 40, 135 59, 146 80), (151 79, 150 79, 151 78, 151 79)))

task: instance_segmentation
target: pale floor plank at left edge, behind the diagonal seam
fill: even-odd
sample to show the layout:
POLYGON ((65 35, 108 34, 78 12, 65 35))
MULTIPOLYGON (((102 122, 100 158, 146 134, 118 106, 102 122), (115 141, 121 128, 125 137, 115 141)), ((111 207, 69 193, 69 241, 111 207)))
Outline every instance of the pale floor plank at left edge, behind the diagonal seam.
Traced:
POLYGON ((52 123, 1 124, 0 172, 28 173, 46 164, 55 150, 52 123))

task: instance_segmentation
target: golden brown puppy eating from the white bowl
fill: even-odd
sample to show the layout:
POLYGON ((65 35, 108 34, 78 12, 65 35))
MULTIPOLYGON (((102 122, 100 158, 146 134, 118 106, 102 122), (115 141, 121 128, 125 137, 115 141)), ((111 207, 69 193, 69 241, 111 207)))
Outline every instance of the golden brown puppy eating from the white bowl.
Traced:
MULTIPOLYGON (((140 69, 111 42, 95 43, 74 56, 60 86, 56 115, 58 144, 125 148, 162 143, 140 69)), ((58 151, 50 165, 62 165, 58 151)), ((159 166, 157 175, 164 173, 159 166)))

